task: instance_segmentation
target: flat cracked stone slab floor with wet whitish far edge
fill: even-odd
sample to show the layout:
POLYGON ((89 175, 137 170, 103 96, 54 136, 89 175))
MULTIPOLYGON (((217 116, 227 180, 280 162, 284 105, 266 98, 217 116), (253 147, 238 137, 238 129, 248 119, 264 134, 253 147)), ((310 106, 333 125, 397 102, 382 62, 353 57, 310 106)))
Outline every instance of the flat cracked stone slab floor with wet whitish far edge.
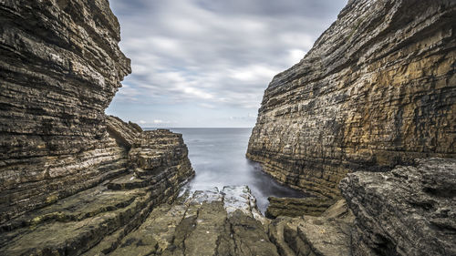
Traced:
POLYGON ((266 224, 247 187, 195 191, 153 210, 109 255, 279 255, 266 224))

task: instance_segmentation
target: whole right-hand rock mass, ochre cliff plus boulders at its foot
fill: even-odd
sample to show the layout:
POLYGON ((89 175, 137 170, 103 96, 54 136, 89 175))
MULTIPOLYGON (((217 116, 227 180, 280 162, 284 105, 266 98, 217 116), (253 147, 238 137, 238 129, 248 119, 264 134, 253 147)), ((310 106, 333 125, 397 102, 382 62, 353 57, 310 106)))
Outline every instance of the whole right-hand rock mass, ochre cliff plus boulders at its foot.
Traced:
POLYGON ((270 199, 282 255, 456 254, 455 28, 455 1, 350 0, 274 77, 247 157, 320 196, 270 199))

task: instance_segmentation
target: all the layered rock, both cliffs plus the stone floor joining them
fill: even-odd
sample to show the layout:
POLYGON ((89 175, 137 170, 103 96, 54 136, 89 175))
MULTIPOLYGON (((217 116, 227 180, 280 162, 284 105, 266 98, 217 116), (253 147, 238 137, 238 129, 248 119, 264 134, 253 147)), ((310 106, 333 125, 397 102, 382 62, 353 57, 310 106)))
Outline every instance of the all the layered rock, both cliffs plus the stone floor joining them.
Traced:
POLYGON ((456 4, 350 0, 264 94, 247 157, 313 193, 190 191, 180 134, 104 111, 107 0, 0 3, 0 255, 456 255, 456 4))

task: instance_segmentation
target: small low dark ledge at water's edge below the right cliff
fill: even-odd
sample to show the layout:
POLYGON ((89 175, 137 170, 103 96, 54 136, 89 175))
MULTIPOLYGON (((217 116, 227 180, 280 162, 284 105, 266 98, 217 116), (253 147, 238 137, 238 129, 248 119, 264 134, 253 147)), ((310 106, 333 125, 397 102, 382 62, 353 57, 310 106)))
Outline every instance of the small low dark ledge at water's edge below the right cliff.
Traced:
POLYGON ((278 216, 320 216, 336 202, 335 200, 319 197, 304 199, 270 197, 268 200, 269 205, 264 215, 271 219, 275 219, 278 216))

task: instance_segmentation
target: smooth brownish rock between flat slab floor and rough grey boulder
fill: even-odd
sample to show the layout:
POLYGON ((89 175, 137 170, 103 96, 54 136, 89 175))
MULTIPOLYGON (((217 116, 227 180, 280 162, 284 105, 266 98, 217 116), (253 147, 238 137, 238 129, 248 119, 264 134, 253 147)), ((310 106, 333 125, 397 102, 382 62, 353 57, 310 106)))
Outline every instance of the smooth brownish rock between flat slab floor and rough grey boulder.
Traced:
POLYGON ((345 200, 338 200, 321 216, 279 217, 269 236, 281 255, 351 255, 354 216, 345 200))

